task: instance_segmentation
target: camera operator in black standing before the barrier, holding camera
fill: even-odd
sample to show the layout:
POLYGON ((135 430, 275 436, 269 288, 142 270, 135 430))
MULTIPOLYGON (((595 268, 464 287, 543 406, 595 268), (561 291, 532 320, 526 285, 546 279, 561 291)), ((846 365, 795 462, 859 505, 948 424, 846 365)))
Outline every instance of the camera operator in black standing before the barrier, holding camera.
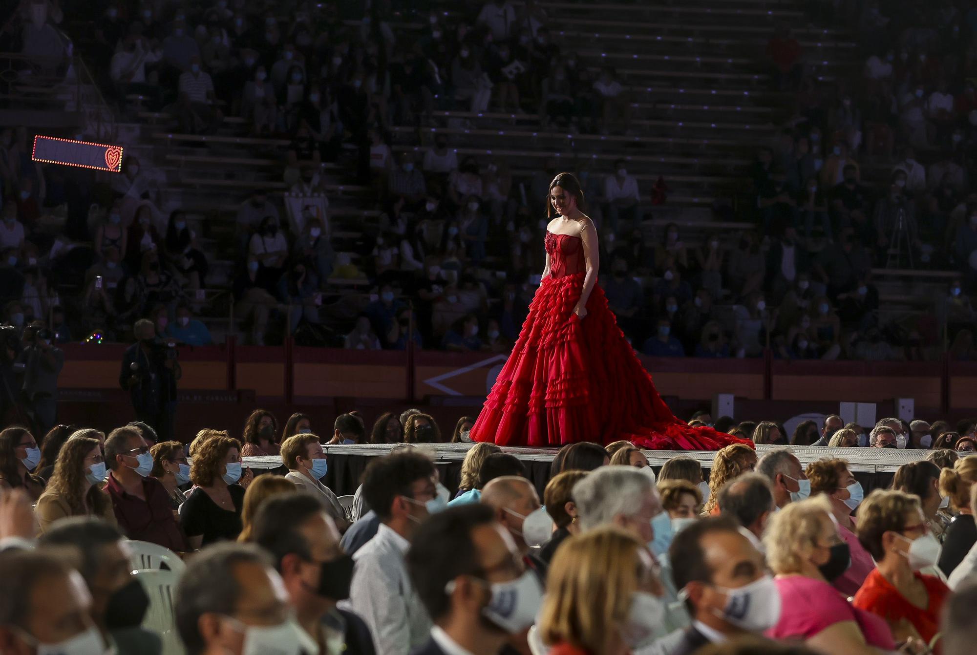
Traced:
POLYGON ((133 326, 136 343, 122 356, 119 385, 132 396, 136 418, 149 423, 160 441, 173 439, 177 409, 177 380, 183 371, 171 343, 156 338, 152 322, 140 319, 133 326))

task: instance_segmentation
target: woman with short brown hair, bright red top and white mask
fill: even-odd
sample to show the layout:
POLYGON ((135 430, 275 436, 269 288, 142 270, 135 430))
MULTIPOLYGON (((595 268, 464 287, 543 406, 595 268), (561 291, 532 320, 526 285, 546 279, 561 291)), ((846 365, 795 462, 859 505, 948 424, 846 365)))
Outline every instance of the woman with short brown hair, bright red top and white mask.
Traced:
POLYGON ((929 531, 919 499, 876 489, 859 508, 858 538, 877 564, 853 605, 882 617, 899 641, 914 637, 931 643, 940 632, 950 589, 924 573, 936 566, 940 543, 929 531))

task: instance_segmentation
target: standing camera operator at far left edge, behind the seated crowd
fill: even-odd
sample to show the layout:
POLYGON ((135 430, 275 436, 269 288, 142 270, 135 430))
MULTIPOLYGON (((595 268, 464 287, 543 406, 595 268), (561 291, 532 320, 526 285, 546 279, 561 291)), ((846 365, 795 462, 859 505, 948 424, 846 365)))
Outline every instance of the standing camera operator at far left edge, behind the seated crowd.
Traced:
POLYGON ((64 351, 52 345, 54 333, 41 321, 23 330, 23 406, 34 434, 47 434, 58 422, 58 375, 64 369, 64 351))

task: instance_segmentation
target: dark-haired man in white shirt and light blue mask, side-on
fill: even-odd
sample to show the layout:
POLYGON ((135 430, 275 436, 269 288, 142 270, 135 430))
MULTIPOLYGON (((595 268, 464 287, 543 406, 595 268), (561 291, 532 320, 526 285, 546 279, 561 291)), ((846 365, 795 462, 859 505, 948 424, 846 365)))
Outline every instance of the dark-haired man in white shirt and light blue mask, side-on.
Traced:
POLYGON ((437 482, 434 463, 412 449, 374 459, 363 474, 363 499, 380 526, 354 555, 349 609, 366 622, 381 655, 408 655, 431 631, 404 554, 417 526, 446 505, 437 482))

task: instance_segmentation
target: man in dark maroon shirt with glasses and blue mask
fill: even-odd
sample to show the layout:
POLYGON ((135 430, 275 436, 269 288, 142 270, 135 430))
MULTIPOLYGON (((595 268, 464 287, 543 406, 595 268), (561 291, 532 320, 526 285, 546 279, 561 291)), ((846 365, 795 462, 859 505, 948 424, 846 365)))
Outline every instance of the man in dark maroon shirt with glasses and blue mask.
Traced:
POLYGON ((106 438, 106 491, 119 527, 130 539, 185 552, 187 539, 173 516, 166 488, 152 472, 152 454, 138 430, 117 427, 106 438))

